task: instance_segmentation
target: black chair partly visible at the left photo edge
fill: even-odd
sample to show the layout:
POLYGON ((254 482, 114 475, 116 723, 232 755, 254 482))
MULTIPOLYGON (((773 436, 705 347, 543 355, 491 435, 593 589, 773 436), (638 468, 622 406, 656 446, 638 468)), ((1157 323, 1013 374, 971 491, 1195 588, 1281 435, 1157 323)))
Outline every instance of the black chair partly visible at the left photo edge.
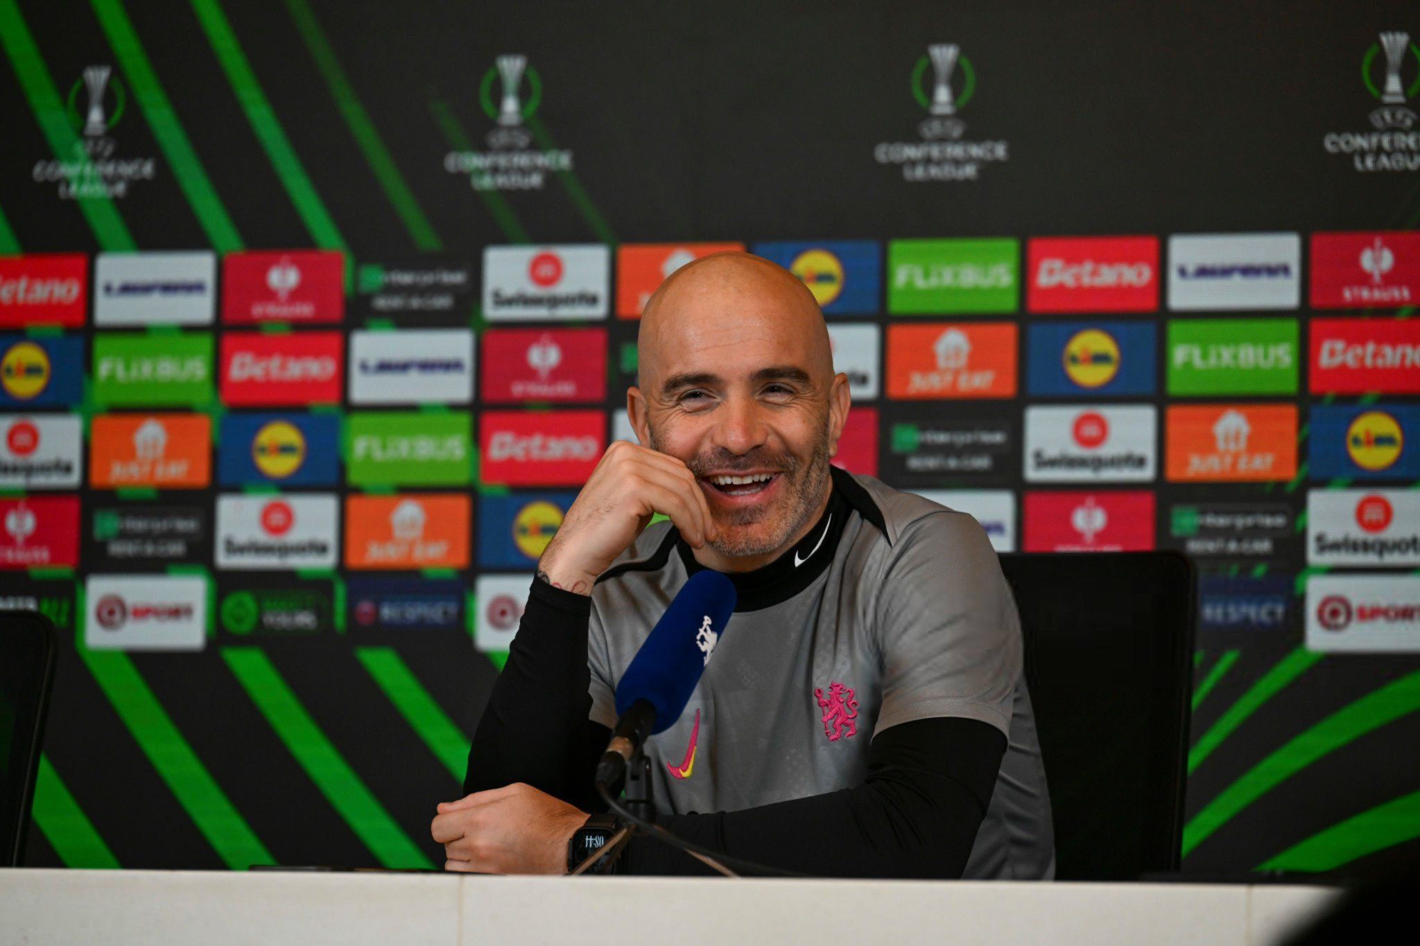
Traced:
POLYGON ((18 867, 24 857, 57 652, 47 617, 0 613, 0 867, 18 867))

